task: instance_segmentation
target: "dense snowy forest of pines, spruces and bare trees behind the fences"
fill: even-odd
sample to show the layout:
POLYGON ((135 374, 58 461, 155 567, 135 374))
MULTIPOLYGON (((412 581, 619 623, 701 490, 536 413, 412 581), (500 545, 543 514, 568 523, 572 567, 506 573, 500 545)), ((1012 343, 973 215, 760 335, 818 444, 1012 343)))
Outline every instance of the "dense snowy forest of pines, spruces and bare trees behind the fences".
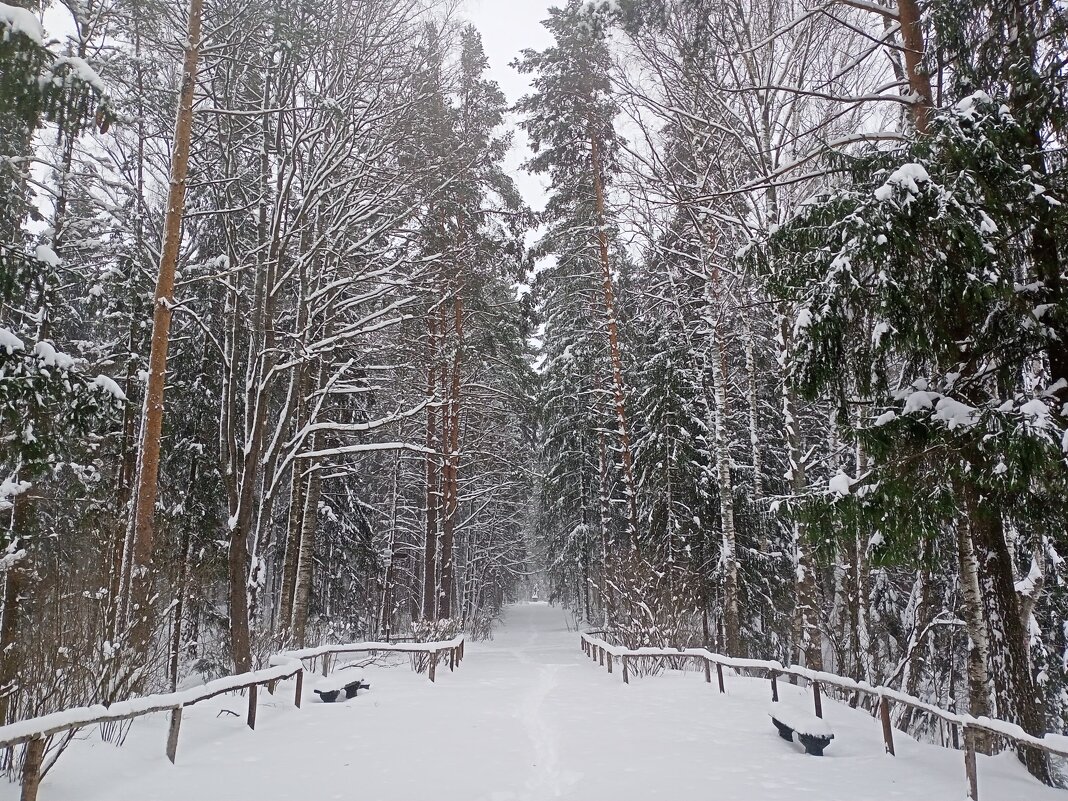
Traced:
POLYGON ((536 585, 1068 732, 1068 6, 544 25, 0 3, 0 723, 536 585))

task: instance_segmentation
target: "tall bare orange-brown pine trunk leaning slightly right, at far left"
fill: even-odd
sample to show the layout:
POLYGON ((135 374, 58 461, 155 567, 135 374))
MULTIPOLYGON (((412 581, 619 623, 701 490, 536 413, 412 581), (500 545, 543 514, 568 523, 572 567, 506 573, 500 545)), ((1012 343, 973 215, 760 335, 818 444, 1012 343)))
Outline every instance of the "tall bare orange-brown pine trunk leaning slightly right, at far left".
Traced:
POLYGON ((148 381, 145 387, 141 422, 141 454, 138 459, 137 484, 134 491, 132 567, 129 588, 132 616, 130 638, 134 647, 142 654, 148 650, 153 630, 152 555, 155 548, 156 494, 163 429, 163 389, 167 382, 171 309, 174 304, 174 272, 182 245, 182 219, 185 215, 186 175, 189 170, 189 148, 192 140, 193 94, 197 88, 203 10, 204 0, 190 0, 185 64, 182 69, 182 88, 174 124, 170 187, 163 218, 163 244, 156 280, 148 381))

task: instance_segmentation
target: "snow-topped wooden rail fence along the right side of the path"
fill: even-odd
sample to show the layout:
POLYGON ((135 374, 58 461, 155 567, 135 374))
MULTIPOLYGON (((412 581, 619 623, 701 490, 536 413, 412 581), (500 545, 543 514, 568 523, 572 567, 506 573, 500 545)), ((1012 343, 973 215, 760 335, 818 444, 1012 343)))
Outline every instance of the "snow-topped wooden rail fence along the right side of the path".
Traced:
POLYGON ((968 797, 972 799, 972 801, 978 801, 979 797, 978 778, 976 775, 975 767, 974 733, 976 731, 988 732, 1000 737, 1005 737, 1018 744, 1036 748, 1053 756, 1068 758, 1068 737, 1063 735, 1050 734, 1046 737, 1035 737, 1034 735, 1024 732, 1023 728, 1018 726, 1016 723, 1009 723, 1008 721, 995 718, 973 718, 970 714, 951 712, 942 707, 934 706, 926 701, 889 687, 876 687, 867 681, 855 681, 851 678, 838 676, 834 673, 813 671, 807 668, 801 668, 800 665, 790 665, 789 668, 786 668, 781 662, 772 660, 727 657, 722 654, 713 654, 706 648, 624 648, 618 645, 612 645, 600 638, 594 637, 594 634, 602 633, 606 632, 583 632, 582 650, 594 661, 599 659, 601 665, 606 665, 607 659, 609 673, 613 672, 613 662, 618 659, 624 684, 630 684, 630 665, 628 660, 642 658, 678 659, 681 657, 693 659, 698 663, 704 663, 706 682, 711 682, 711 671, 712 665, 714 665, 720 692, 726 692, 723 681, 724 668, 733 668, 736 671, 758 671, 767 674, 771 679, 772 701, 779 701, 779 687, 776 684, 779 676, 794 676, 805 679, 812 686, 813 704, 815 706, 817 718, 823 717, 823 706, 820 697, 821 685, 834 687, 839 690, 846 690, 848 692, 871 695, 878 698, 879 717, 882 722, 883 743, 885 745, 886 753, 891 756, 895 755, 894 726, 890 717, 891 702, 912 707, 913 709, 917 709, 938 718, 939 720, 945 721, 951 725, 959 726, 964 742, 964 771, 968 775, 968 797))

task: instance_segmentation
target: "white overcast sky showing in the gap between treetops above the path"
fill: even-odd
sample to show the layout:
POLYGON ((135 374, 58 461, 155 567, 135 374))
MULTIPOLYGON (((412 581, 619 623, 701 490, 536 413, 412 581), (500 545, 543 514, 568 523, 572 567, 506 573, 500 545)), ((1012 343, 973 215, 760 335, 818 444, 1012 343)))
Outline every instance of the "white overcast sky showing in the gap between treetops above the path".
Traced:
MULTIPOLYGON (((552 37, 541 26, 549 16, 548 10, 560 0, 465 0, 464 15, 482 33, 490 76, 501 84, 501 90, 514 104, 530 90, 528 76, 519 75, 508 64, 524 47, 540 50, 552 44, 552 37)), ((508 158, 508 169, 527 203, 534 209, 545 206, 545 187, 537 176, 519 169, 529 156, 525 138, 516 130, 515 143, 508 158)))

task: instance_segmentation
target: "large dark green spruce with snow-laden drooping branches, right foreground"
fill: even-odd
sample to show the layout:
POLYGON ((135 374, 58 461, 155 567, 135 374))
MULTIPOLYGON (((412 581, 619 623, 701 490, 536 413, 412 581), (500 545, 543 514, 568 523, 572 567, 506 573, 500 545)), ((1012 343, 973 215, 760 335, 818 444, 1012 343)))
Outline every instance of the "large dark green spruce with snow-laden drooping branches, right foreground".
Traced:
MULTIPOLYGON (((1058 377, 1042 355, 1043 319, 1065 310, 1033 258, 1033 233, 1061 215, 1062 177, 1038 185, 1019 121, 984 92, 934 116, 930 134, 849 164, 851 183, 771 237, 773 287, 803 304, 796 378, 829 394, 870 470, 832 478, 816 514, 876 531, 873 555, 893 561, 947 525, 965 532, 989 625, 999 717, 1040 734, 1046 720, 1016 590, 1010 532, 1064 519, 1065 425, 1058 377), (848 408, 857 392, 870 417, 848 408)), ((1058 223, 1063 225, 1064 223, 1058 223)), ((1039 547, 1039 552, 1043 548, 1039 547)), ((981 709, 989 688, 972 687, 981 709)), ((1048 780, 1040 752, 1022 757, 1048 780)))

